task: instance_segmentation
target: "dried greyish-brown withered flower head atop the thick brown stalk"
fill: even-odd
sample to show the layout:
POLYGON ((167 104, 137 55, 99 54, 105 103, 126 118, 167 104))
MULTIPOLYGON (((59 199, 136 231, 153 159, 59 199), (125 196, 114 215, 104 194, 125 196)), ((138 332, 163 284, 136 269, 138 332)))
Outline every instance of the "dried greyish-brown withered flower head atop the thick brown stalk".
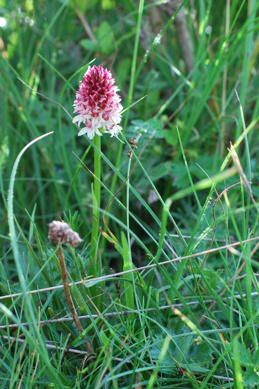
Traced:
POLYGON ((68 223, 53 220, 49 224, 48 239, 55 242, 69 243, 72 247, 76 247, 83 239, 80 238, 77 232, 73 231, 68 223))

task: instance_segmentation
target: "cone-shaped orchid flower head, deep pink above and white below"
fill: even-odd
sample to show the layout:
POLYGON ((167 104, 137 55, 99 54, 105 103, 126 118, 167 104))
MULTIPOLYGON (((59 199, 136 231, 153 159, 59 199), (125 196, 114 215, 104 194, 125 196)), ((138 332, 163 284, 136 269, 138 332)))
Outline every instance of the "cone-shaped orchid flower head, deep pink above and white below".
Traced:
POLYGON ((121 126, 121 111, 123 109, 117 94, 120 90, 114 86, 115 80, 111 72, 102 66, 89 66, 81 81, 73 106, 73 123, 84 123, 78 135, 86 134, 93 139, 94 135, 102 135, 102 132, 109 132, 111 137, 119 134, 121 126))

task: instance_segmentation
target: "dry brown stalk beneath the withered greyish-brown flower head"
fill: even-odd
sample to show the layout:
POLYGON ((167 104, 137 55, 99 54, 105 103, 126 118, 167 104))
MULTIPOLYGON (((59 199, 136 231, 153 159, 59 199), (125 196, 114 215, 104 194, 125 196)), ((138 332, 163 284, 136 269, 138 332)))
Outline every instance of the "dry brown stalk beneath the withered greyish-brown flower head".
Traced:
MULTIPOLYGON (((71 297, 71 293, 69 290, 68 272, 67 272, 67 268, 66 268, 66 263, 65 263, 65 258, 63 255, 62 247, 60 246, 59 241, 56 241, 56 246, 57 246, 57 253, 58 253, 59 265, 60 265, 60 269, 61 269, 61 276, 62 276, 62 281, 63 281, 63 285, 64 285, 66 300, 67 300, 71 315, 73 317, 74 323, 76 325, 77 331, 79 332, 79 335, 81 335, 82 332, 84 331, 84 329, 83 329, 82 324, 78 318, 78 315, 77 315, 77 312, 76 312, 76 309, 75 309, 75 306, 74 306, 74 303, 73 303, 73 300, 71 297)), ((82 338, 86 339, 86 335, 83 335, 82 338)), ((87 352, 89 352, 89 353, 93 352, 89 342, 86 342, 85 346, 86 346, 87 352)))

